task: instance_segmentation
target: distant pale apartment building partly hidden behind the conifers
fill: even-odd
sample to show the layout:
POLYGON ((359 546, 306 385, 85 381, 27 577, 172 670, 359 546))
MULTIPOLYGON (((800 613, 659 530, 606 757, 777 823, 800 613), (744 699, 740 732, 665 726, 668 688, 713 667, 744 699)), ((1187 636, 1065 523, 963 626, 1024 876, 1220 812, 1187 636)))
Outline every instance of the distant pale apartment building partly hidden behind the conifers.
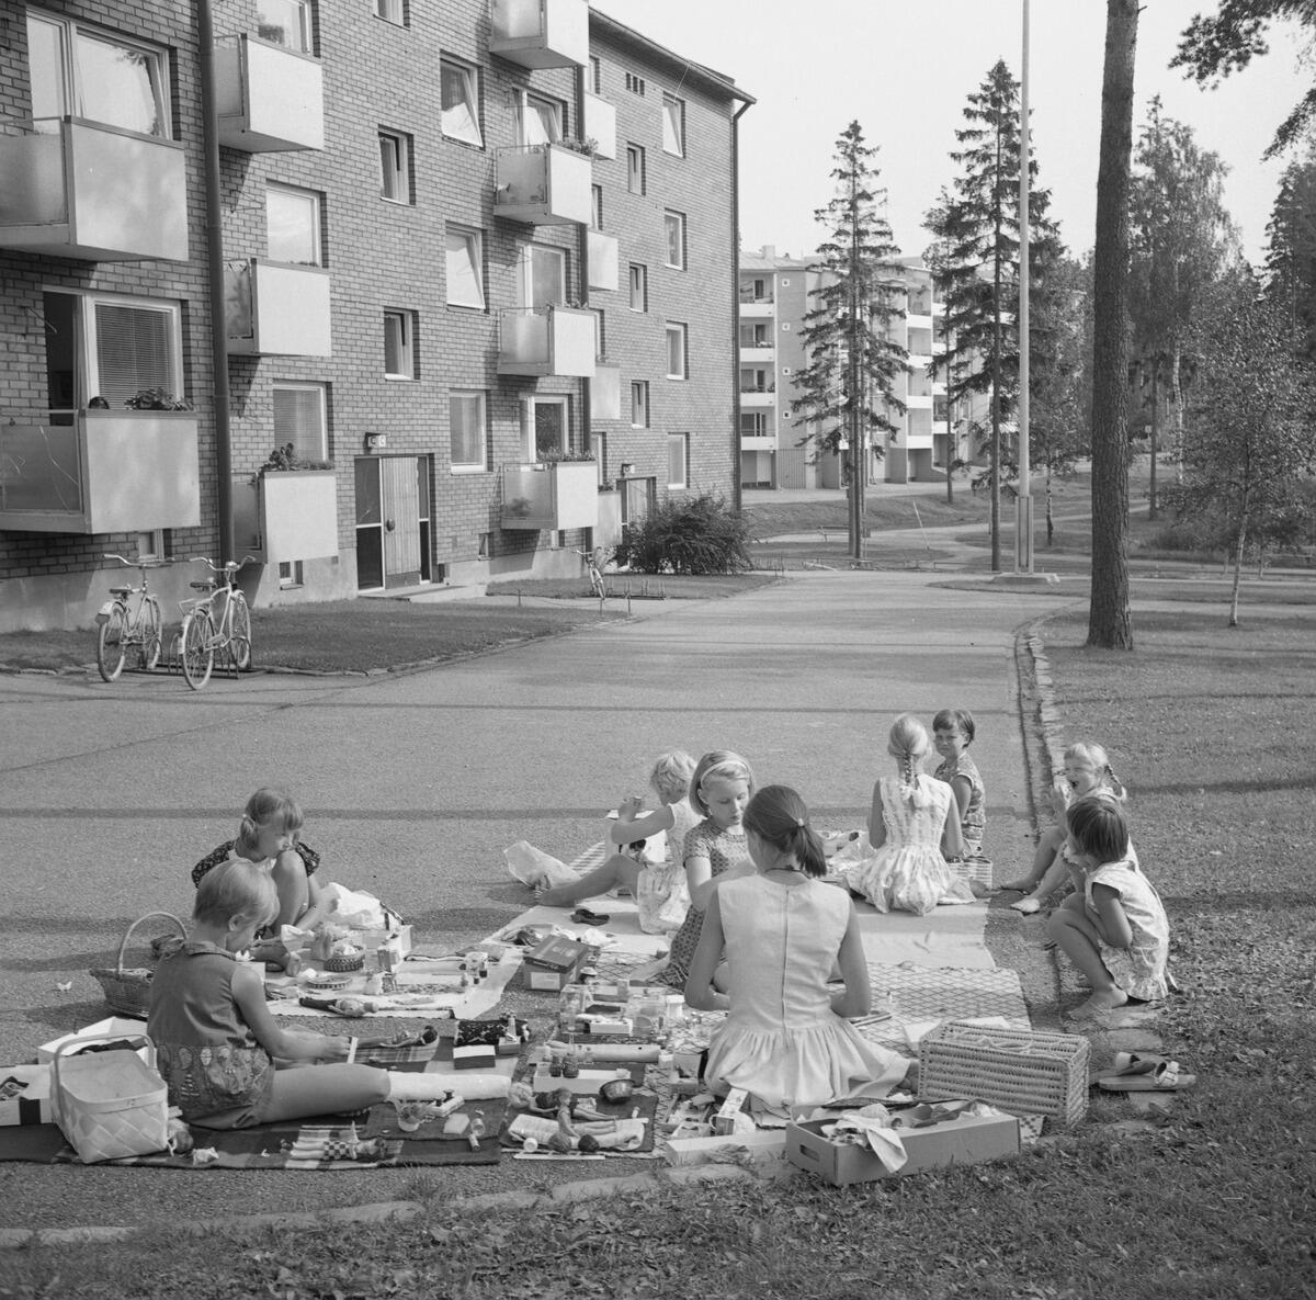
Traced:
MULTIPOLYGON (((917 257, 896 259, 904 286, 890 337, 909 354, 909 371, 896 383, 887 414, 896 432, 869 455, 869 482, 907 483, 945 478, 948 446, 953 459, 967 459, 967 409, 948 409, 945 375, 934 358, 945 350, 941 303, 933 299, 932 272, 917 257)), ((805 441, 791 401, 795 376, 808 355, 801 329, 813 293, 826 272, 815 261, 778 255, 766 245, 740 259, 741 482, 745 488, 840 488, 841 458, 819 455, 805 441)))

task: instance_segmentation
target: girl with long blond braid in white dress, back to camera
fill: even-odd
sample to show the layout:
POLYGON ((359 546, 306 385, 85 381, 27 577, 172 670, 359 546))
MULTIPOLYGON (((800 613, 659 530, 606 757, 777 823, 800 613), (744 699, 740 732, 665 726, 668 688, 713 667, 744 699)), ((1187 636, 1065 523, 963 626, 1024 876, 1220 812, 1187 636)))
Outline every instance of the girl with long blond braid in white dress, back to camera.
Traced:
POLYGON ((950 816, 955 808, 951 788, 920 771, 930 751, 924 725, 912 713, 901 713, 887 741, 896 772, 873 787, 873 853, 845 871, 850 891, 879 912, 926 916, 938 903, 974 901, 973 889, 942 857, 942 837, 953 858, 963 854, 963 839, 958 814, 950 816))

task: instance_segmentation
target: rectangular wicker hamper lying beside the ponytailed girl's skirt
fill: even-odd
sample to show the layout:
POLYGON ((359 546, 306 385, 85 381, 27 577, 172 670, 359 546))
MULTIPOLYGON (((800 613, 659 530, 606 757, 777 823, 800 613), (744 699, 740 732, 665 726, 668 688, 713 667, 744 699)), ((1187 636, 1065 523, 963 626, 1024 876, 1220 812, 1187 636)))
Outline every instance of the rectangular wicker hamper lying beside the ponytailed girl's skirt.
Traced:
POLYGON ((974 1097, 1074 1124, 1087 1112, 1088 1041, 948 1020, 919 1043, 919 1096, 974 1097))

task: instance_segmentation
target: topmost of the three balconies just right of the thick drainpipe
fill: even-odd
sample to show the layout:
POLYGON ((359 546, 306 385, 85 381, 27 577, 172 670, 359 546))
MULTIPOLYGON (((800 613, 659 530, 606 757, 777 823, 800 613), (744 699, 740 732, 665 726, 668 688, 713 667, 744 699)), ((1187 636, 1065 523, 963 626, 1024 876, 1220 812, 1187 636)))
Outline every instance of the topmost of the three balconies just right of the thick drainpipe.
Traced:
POLYGON ((257 37, 215 42, 220 143, 247 154, 325 147, 320 61, 257 37))

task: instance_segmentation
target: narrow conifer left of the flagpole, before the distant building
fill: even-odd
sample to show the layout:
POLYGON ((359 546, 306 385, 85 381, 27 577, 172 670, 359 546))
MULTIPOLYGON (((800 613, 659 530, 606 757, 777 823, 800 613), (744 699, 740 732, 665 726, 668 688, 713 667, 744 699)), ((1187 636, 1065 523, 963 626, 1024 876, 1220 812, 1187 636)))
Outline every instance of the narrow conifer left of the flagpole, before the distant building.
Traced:
POLYGON ((882 454, 880 433, 895 432, 891 412, 904 412, 895 396, 896 378, 908 368, 905 349, 890 337, 899 295, 904 292, 899 254, 886 217, 886 191, 879 189, 857 121, 836 145, 836 197, 815 212, 832 230, 819 245, 819 272, 800 337, 807 364, 795 376, 799 396, 791 401, 795 424, 805 432, 800 445, 816 454, 849 443, 850 554, 863 559, 863 486, 866 449, 882 454))

